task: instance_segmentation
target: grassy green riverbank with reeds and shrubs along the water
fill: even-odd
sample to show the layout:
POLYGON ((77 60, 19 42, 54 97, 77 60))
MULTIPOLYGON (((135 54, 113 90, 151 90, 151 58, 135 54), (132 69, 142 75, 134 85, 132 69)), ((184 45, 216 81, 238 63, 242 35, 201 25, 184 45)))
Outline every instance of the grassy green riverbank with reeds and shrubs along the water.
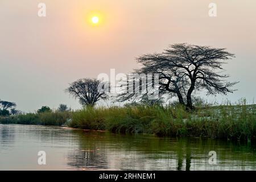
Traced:
POLYGON ((113 133, 256 141, 256 105, 206 106, 192 112, 182 106, 87 107, 79 111, 0 118, 0 123, 67 125, 113 133))

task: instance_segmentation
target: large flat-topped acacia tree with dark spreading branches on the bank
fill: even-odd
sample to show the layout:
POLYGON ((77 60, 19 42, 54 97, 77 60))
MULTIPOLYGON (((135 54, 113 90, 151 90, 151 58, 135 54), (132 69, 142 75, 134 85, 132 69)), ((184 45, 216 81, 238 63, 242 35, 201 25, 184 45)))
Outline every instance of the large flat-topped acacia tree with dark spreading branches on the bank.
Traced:
MULTIPOLYGON (((192 109, 192 93, 206 89, 208 94, 232 93, 237 82, 225 81, 228 75, 222 75, 222 64, 234 55, 224 48, 174 44, 162 53, 152 53, 137 58, 142 64, 135 73, 159 74, 159 93, 177 96, 179 103, 192 109)), ((130 99, 135 94, 122 95, 130 99)))

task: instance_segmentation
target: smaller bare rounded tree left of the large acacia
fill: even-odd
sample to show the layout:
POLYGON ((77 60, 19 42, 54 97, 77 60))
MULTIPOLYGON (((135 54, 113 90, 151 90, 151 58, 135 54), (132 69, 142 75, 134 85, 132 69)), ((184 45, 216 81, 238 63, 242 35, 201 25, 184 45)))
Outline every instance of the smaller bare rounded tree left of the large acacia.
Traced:
POLYGON ((104 82, 95 78, 82 78, 69 84, 66 92, 78 98, 82 106, 94 106, 97 101, 107 98, 104 82))

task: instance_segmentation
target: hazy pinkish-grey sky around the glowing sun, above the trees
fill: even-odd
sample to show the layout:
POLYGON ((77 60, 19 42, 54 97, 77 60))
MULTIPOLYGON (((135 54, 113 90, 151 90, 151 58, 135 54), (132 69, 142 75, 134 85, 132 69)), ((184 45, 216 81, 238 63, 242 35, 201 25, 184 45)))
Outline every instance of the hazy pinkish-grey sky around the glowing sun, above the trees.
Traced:
POLYGON ((169 44, 227 48, 236 58, 225 65, 230 81, 240 81, 228 96, 255 97, 255 0, 0 0, 0 99, 19 110, 77 101, 64 93, 68 83, 100 73, 127 73, 135 57, 162 52, 169 44), (46 17, 38 16, 38 3, 46 17), (209 3, 217 17, 209 17, 209 3), (101 16, 98 26, 88 19, 101 16))

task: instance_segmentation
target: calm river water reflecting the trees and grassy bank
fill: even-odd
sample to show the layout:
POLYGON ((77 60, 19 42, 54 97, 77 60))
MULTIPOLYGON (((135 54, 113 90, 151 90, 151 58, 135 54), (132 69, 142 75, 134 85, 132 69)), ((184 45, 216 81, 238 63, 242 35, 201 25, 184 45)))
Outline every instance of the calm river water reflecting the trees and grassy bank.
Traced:
POLYGON ((0 125, 0 170, 255 169, 256 147, 248 143, 0 125), (46 152, 46 165, 38 164, 39 151, 46 152), (210 151, 216 152, 211 163, 210 151))

